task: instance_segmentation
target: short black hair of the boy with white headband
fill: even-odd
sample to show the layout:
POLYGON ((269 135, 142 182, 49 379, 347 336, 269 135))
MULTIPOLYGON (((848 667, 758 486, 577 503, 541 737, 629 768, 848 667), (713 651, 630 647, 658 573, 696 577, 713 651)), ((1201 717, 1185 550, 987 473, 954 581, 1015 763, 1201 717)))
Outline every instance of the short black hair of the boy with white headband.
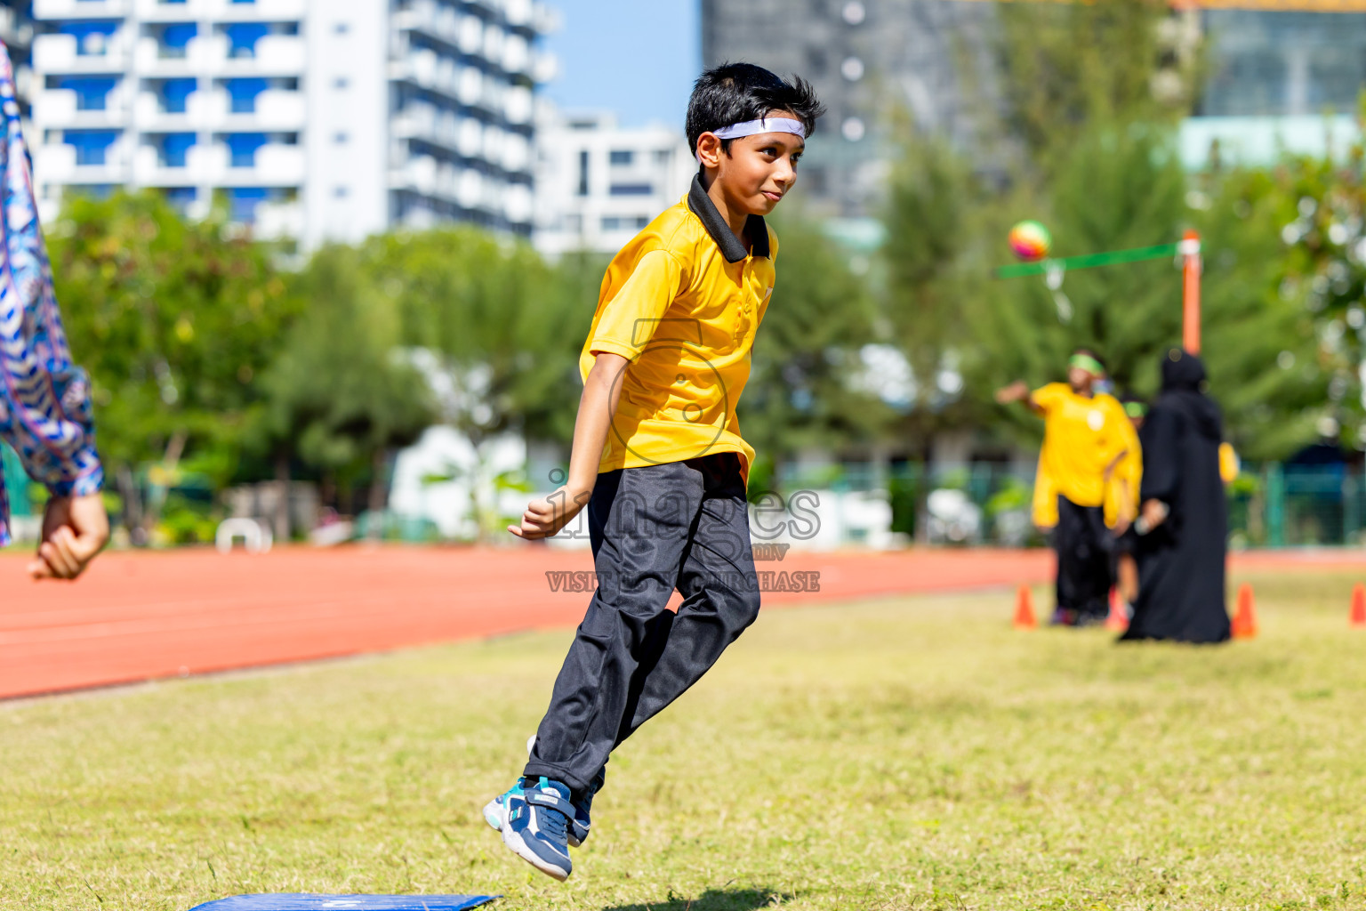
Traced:
MULTIPOLYGON (((811 135, 825 105, 816 97, 811 83, 800 76, 787 82, 753 63, 712 67, 697 78, 687 102, 688 148, 697 154, 697 141, 703 132, 758 120, 775 111, 790 111, 806 127, 806 135, 811 135)), ((729 153, 731 142, 721 139, 721 150, 729 153)))

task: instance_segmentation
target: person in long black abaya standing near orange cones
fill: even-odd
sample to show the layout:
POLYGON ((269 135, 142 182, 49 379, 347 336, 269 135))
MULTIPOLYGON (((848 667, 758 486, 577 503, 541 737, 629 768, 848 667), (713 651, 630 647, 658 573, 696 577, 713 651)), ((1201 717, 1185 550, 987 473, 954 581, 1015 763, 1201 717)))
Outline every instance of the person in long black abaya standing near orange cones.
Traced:
POLYGON ((1205 395, 1205 365, 1180 350, 1162 361, 1162 392, 1143 447, 1138 601, 1123 639, 1224 642, 1228 505, 1218 473, 1223 419, 1205 395))

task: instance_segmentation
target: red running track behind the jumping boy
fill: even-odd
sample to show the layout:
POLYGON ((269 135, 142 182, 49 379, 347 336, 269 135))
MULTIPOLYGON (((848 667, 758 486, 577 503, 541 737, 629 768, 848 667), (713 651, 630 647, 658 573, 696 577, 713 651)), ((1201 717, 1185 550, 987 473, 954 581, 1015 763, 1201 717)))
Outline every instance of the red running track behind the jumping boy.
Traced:
MULTIPOLYGON (((1344 560, 1366 565, 1346 556, 1306 563, 1259 555, 1251 563, 1322 571, 1344 560)), ((23 567, 0 559, 0 698, 568 627, 589 595, 552 591, 546 572, 587 571, 591 560, 545 546, 119 552, 74 585, 30 582, 23 567)), ((788 553, 759 570, 820 572, 820 591, 764 597, 765 605, 791 605, 1040 583, 1050 578, 1052 557, 788 553)))

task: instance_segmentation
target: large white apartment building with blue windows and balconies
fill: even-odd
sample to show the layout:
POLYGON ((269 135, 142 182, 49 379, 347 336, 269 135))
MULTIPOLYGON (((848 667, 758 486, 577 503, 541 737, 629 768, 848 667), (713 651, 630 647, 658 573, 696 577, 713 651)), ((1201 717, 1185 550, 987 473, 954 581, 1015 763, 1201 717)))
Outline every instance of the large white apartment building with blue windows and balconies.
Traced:
POLYGON ((34 0, 34 176, 217 202, 303 249, 395 225, 529 235, 533 0, 34 0))

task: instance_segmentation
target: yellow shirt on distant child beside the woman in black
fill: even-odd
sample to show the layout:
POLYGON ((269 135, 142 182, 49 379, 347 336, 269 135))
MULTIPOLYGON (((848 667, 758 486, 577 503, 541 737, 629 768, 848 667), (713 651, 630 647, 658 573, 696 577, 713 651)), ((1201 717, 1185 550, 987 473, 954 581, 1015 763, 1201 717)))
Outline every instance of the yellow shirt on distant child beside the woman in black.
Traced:
POLYGON ((1119 399, 1090 399, 1065 382, 1035 389, 1030 402, 1044 412, 1044 448, 1034 486, 1034 522, 1057 524, 1057 494, 1079 507, 1105 503, 1105 466, 1135 437, 1119 399))

